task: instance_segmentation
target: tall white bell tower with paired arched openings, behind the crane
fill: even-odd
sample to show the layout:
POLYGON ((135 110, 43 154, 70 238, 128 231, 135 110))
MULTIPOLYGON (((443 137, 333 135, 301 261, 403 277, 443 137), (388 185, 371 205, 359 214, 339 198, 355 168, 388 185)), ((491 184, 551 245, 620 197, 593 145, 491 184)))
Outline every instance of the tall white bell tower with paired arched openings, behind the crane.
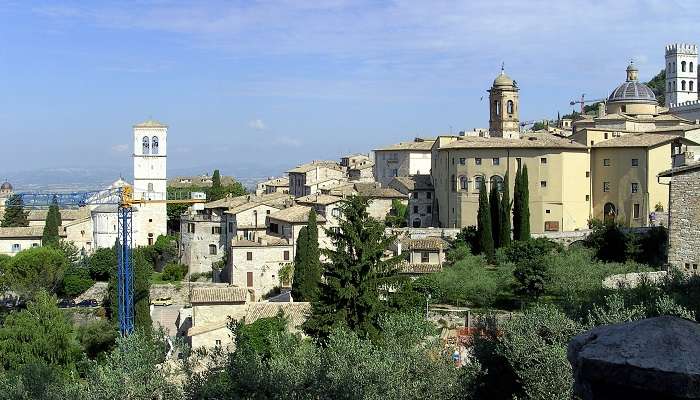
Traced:
MULTIPOLYGON (((148 120, 134 125, 134 199, 166 200, 168 126, 148 120)), ((134 246, 155 243, 166 235, 165 202, 141 204, 134 207, 134 246)))

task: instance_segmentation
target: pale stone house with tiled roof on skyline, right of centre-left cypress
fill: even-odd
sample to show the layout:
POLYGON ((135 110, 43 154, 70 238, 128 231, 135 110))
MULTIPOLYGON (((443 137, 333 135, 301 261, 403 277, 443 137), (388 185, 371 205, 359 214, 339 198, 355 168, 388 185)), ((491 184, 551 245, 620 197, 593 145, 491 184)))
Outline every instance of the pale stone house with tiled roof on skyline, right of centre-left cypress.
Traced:
POLYGON ((290 169, 287 174, 289 194, 294 197, 314 194, 347 181, 345 169, 334 161, 312 161, 290 169))

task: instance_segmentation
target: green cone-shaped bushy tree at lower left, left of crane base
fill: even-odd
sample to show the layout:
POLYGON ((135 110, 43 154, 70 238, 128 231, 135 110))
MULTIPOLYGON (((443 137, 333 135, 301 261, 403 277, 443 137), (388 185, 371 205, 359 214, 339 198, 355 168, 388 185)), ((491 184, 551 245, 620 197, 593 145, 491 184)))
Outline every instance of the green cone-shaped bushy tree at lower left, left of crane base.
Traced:
POLYGON ((73 327, 56 298, 37 292, 27 309, 11 313, 0 327, 0 365, 15 370, 25 364, 72 368, 81 358, 73 327))

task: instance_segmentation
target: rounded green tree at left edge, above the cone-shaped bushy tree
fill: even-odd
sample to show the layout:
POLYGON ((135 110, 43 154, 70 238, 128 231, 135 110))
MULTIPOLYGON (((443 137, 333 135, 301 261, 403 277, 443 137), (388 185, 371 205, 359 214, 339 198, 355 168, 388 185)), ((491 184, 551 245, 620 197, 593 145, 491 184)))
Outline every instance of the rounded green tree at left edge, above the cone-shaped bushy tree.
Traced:
POLYGON ((55 293, 68 268, 64 254, 50 247, 20 251, 5 267, 5 278, 11 290, 22 297, 33 297, 41 289, 55 293))

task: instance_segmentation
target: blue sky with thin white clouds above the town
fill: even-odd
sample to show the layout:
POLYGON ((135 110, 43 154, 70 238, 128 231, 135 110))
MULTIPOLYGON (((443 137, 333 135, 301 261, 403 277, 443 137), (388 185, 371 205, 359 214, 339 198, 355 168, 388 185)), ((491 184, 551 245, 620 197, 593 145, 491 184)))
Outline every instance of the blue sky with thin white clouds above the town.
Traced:
POLYGON ((555 117, 630 59, 649 79, 698 20, 669 0, 0 0, 2 165, 128 174, 131 126, 153 117, 171 170, 268 175, 485 127, 501 62, 521 118, 555 117))

